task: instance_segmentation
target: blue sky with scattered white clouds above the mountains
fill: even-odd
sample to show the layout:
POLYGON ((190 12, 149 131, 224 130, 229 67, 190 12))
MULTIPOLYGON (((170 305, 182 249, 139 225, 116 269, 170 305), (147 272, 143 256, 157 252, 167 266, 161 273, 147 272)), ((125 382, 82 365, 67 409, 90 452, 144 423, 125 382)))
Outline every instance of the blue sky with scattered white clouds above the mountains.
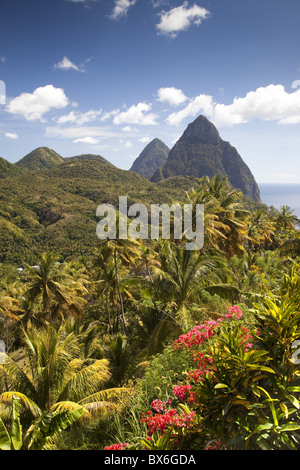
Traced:
POLYGON ((1 0, 0 156, 129 169, 200 114, 259 183, 300 183, 299 0, 1 0), (4 85, 6 96, 4 99, 4 85))

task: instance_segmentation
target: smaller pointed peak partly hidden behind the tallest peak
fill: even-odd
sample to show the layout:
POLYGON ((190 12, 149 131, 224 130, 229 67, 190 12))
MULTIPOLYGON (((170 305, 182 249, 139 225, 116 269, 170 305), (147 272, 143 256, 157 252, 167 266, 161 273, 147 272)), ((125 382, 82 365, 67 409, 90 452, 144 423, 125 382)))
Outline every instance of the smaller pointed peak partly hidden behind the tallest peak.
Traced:
POLYGON ((130 171, 150 179, 157 168, 166 163, 169 151, 169 147, 160 139, 153 139, 134 161, 130 171))

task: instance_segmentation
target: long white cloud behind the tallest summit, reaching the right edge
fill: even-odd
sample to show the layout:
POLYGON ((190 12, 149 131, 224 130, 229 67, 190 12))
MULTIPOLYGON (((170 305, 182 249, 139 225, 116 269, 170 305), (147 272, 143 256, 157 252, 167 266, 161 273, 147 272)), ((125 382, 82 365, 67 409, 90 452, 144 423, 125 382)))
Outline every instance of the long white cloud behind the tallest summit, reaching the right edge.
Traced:
POLYGON ((234 98, 229 105, 215 102, 212 96, 199 95, 190 99, 185 108, 170 114, 167 123, 179 125, 185 118, 200 113, 207 115, 219 127, 252 119, 296 124, 300 122, 300 90, 287 93, 283 85, 268 85, 250 91, 244 97, 234 98))

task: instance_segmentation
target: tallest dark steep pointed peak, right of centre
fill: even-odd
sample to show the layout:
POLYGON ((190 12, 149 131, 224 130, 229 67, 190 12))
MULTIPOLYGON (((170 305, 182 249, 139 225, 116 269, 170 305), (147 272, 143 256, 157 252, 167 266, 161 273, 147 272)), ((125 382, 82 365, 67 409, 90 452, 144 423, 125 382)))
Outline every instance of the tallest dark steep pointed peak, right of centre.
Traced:
POLYGON ((250 169, 229 142, 221 139, 215 126, 199 116, 188 125, 170 150, 166 163, 151 178, 158 182, 170 176, 190 175, 197 178, 227 176, 231 185, 245 196, 260 202, 259 187, 250 169))

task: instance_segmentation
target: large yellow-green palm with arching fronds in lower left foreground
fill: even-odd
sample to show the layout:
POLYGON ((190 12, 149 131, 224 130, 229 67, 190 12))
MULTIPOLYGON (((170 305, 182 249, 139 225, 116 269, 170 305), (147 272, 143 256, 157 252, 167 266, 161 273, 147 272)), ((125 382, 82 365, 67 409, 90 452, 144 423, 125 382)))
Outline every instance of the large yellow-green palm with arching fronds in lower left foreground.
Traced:
MULTIPOLYGON (((13 397, 38 418, 44 411, 83 409, 85 417, 115 410, 114 403, 125 389, 105 389, 111 374, 106 359, 85 358, 80 339, 48 326, 24 333, 26 366, 7 357, 0 367, 2 406, 11 406, 13 397)), ((2 408, 3 409, 3 408, 2 408)), ((0 409, 1 412, 1 409, 0 409)))

